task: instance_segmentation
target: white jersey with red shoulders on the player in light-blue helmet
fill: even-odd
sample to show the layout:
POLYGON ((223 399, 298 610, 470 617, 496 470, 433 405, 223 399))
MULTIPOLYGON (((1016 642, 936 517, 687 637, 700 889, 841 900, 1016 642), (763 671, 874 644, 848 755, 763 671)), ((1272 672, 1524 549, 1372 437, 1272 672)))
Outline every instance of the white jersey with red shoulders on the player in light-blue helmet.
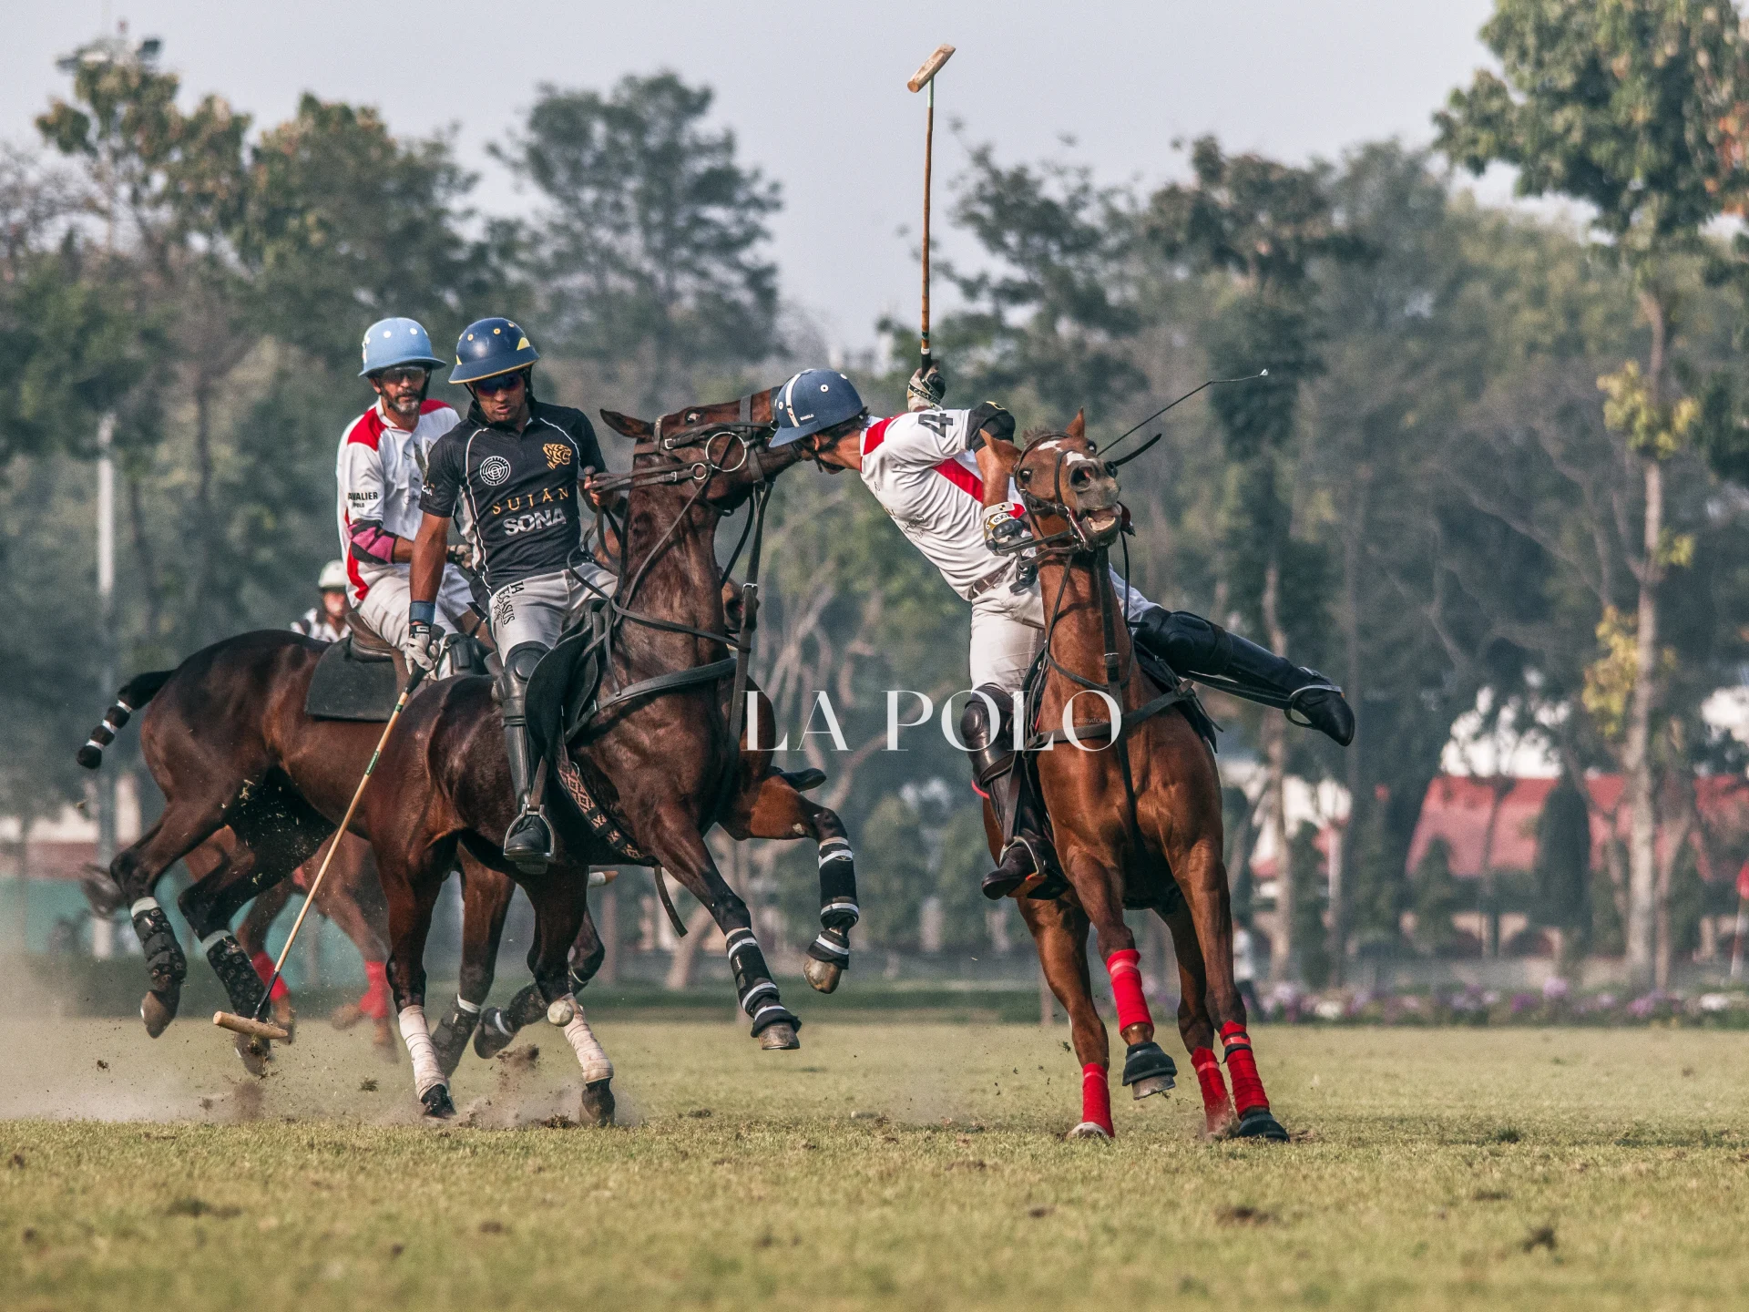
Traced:
POLYGON ((357 605, 383 574, 406 574, 408 565, 380 565, 352 555, 352 527, 373 521, 408 541, 418 537, 420 492, 425 486, 425 455, 430 444, 462 422, 442 401, 425 401, 413 432, 383 418, 383 404, 371 406, 346 425, 339 439, 334 476, 339 483, 339 551, 346 562, 352 602, 357 605))

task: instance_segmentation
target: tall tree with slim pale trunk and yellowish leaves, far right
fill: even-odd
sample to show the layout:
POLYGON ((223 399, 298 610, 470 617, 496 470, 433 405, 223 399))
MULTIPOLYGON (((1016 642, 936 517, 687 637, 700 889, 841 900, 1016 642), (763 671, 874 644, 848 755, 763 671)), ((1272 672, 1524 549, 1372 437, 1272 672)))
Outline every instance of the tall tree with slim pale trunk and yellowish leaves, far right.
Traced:
POLYGON ((1634 273, 1651 331, 1646 367, 1600 380, 1606 422, 1637 458, 1641 542, 1632 619, 1632 687, 1621 766, 1628 784, 1628 966, 1653 974, 1656 813, 1653 714, 1660 700, 1660 590, 1681 563, 1667 539, 1665 462, 1684 443, 1693 402, 1665 399, 1683 257, 1700 229, 1742 196, 1744 177, 1725 147, 1746 91, 1735 9, 1716 0, 1497 0, 1481 38, 1504 80, 1478 72, 1434 115, 1438 147, 1480 173, 1518 168, 1522 196, 1558 192, 1595 208, 1593 227, 1634 273))

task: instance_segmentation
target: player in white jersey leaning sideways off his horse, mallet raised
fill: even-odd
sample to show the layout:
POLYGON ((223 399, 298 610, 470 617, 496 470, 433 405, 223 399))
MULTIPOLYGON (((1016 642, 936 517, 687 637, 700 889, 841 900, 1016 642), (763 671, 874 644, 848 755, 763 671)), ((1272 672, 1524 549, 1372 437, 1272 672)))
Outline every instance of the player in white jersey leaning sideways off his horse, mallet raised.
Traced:
MULTIPOLYGON (((1055 897, 1065 883, 1013 749, 1014 693, 1044 642, 1044 597, 1014 551, 1027 535, 1018 488, 1009 483, 1007 504, 992 513, 983 506, 985 483, 1006 478, 990 443, 1013 441, 1014 416, 988 401, 972 409, 943 409, 943 394, 939 371, 920 371, 908 388, 909 409, 874 420, 841 373, 805 369, 775 394, 778 427, 771 446, 805 443, 820 469, 857 471, 899 530, 971 602, 971 677, 985 696, 967 701, 960 738, 1002 831, 1002 855, 985 876, 983 892, 990 899, 1013 892, 1055 897), (1000 712, 995 724, 992 705, 1000 712)), ((1341 689, 1317 670, 1293 665, 1202 616, 1167 611, 1116 572, 1112 586, 1137 646, 1179 673, 1221 679, 1240 696, 1291 707, 1343 747, 1354 740, 1354 712, 1341 689)))

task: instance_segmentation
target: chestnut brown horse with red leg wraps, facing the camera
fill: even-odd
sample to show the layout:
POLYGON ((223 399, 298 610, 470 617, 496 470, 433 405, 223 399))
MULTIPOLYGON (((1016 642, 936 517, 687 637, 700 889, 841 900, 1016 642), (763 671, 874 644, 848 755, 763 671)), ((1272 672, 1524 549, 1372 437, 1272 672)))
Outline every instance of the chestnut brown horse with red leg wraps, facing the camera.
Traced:
MULTIPOLYGON (((1004 443, 1000 453, 1027 507, 1044 597, 1042 673, 1027 705, 1028 745, 1070 887, 1055 901, 1021 899, 1020 908, 1051 992, 1069 1013, 1083 1064, 1083 1120, 1070 1134, 1112 1134, 1109 1050, 1088 978, 1088 925, 1098 934, 1118 1032, 1128 1044, 1123 1083, 1139 1099, 1172 1086, 1175 1071, 1153 1041, 1135 936, 1123 920, 1125 908, 1153 908, 1177 948, 1179 1034, 1202 1086, 1207 1132, 1286 1139, 1270 1114, 1245 1032, 1245 1004, 1233 983, 1214 754, 1181 714, 1188 686, 1160 686, 1137 665, 1112 586, 1107 549, 1128 518, 1118 500, 1116 467, 1098 458, 1081 415, 1065 432, 1030 436, 1023 450, 1004 443), (1216 1030, 1233 1076, 1237 1127, 1214 1055, 1216 1030)), ((992 495, 1000 497, 1006 483, 992 495)), ((985 826, 995 854, 988 806, 985 826)))

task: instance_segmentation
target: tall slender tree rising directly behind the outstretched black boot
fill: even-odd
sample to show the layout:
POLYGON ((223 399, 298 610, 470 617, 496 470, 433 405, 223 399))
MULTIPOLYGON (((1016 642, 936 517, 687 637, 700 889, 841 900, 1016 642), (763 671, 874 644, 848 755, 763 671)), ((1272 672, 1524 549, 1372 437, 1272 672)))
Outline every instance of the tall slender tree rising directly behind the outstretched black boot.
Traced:
MULTIPOLYGON (((1228 157, 1212 136, 1203 136, 1191 149, 1191 168, 1193 185, 1154 192, 1140 220, 1144 238, 1168 261, 1230 280, 1224 303, 1203 327, 1214 376, 1268 369, 1258 383, 1217 388, 1209 402, 1228 460, 1216 616, 1245 614, 1277 653, 1308 659, 1303 642, 1326 614, 1326 562, 1317 544, 1294 541, 1293 485, 1284 465, 1296 436, 1300 388, 1324 367, 1313 266, 1355 261, 1366 248, 1336 213, 1326 166, 1228 157)), ((1280 854, 1272 962, 1277 978, 1289 978, 1300 962, 1282 717, 1265 717, 1263 742, 1270 824, 1280 854)))

